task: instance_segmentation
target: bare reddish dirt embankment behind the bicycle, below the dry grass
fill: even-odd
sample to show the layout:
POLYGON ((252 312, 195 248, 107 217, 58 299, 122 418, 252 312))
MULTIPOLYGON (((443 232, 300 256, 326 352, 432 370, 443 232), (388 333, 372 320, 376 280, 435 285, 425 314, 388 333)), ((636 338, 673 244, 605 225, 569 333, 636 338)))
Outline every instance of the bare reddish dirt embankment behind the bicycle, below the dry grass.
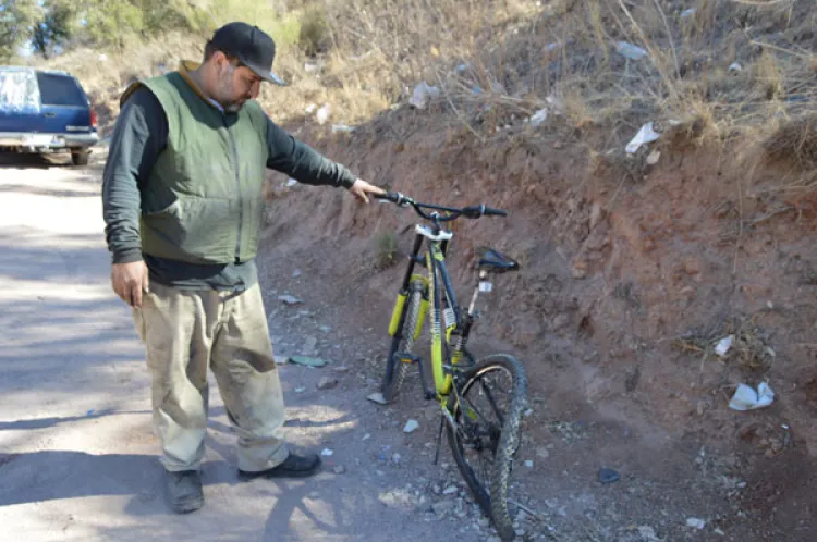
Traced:
MULTIPOLYGON (((453 276, 470 295, 481 245, 522 263, 496 281, 477 343, 512 349, 527 367, 537 405, 528 444, 552 440, 554 420, 623 423, 639 436, 622 454, 705 449, 754 484, 737 508, 757 518, 788 509, 769 519, 778 532, 807 517, 797 510, 809 506, 808 477, 796 473, 810 472, 817 454, 817 214, 790 167, 669 134, 633 158, 590 156, 566 125, 479 145, 434 111, 411 109, 353 134, 296 134, 418 200, 511 211, 454 225, 453 276), (651 150, 660 151, 653 165, 651 150), (760 382, 775 391, 770 407, 728 407, 736 384, 760 382)), ((308 254, 316 290, 346 327, 381 328, 402 273, 377 264, 382 239, 397 239, 402 263, 416 215, 358 210, 282 181, 272 182, 267 257, 308 254)))

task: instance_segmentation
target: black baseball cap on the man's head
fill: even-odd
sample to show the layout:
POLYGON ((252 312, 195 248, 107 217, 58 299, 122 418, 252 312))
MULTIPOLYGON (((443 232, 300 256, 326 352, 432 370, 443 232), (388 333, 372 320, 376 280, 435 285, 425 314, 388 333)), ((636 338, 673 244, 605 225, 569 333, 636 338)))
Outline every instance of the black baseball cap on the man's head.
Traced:
POLYGON ((214 33, 210 46, 224 54, 235 57, 260 78, 286 86, 286 83, 272 72, 276 42, 257 26, 242 22, 228 23, 214 33))

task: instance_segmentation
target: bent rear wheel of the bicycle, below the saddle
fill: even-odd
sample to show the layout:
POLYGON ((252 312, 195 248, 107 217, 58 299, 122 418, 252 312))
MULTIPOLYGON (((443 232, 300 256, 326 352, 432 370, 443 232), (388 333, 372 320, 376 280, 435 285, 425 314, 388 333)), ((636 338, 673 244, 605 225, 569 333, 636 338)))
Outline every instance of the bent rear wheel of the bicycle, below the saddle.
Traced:
POLYGON ((512 356, 492 355, 458 381, 459 393, 448 405, 456 422, 448 428, 454 460, 500 538, 513 540, 508 490, 527 404, 524 369, 512 356))

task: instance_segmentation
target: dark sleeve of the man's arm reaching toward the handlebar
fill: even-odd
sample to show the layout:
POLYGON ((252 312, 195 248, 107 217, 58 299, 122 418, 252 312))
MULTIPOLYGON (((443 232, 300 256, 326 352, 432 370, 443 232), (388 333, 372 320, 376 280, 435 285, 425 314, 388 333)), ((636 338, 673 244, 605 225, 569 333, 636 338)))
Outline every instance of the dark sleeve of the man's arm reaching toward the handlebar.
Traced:
POLYGON ((350 188, 357 177, 344 165, 298 141, 267 118, 267 168, 290 175, 300 183, 350 188))

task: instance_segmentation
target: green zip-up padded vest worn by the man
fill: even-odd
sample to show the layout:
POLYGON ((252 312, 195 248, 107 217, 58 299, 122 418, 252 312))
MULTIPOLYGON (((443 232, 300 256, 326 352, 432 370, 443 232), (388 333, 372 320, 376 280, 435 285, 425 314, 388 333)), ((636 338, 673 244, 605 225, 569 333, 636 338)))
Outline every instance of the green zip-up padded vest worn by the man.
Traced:
POLYGON ((191 263, 255 257, 264 217, 267 118, 207 103, 178 72, 142 82, 168 119, 168 144, 142 189, 142 250, 191 263))

